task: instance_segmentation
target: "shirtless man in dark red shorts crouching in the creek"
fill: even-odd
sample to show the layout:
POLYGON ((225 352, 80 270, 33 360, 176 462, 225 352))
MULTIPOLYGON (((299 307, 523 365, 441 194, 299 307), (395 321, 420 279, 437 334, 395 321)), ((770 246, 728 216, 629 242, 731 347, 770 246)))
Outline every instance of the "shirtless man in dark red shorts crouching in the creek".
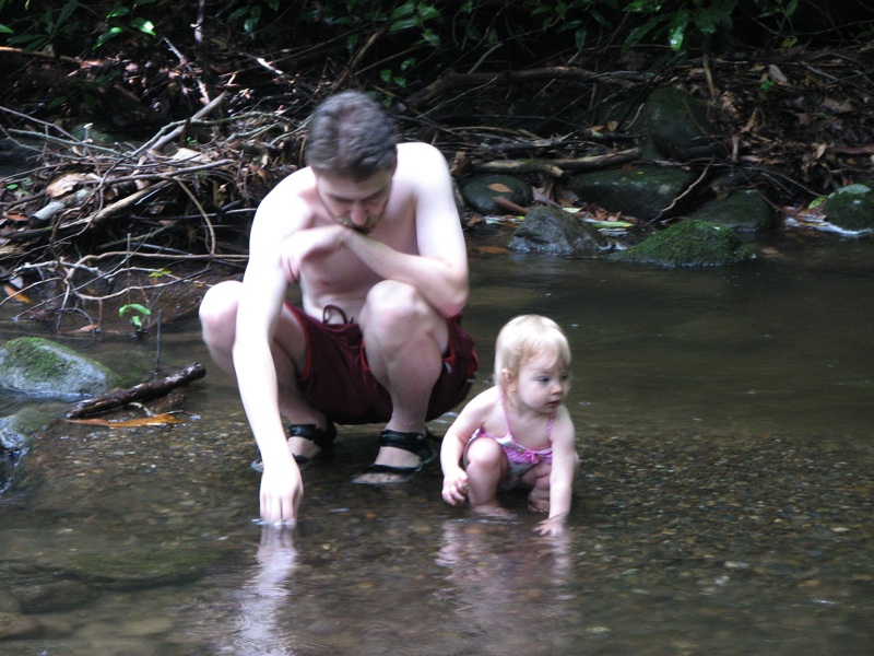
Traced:
POLYGON ((418 471, 436 455, 425 421, 464 399, 479 364, 460 327, 466 250, 440 152, 395 145, 381 107, 344 92, 316 109, 307 164, 259 206, 243 282, 215 285, 200 308, 210 353, 236 375, 271 524, 296 520, 299 467, 330 457, 333 422, 386 422, 356 482, 418 471), (295 282, 302 308, 285 302, 295 282))

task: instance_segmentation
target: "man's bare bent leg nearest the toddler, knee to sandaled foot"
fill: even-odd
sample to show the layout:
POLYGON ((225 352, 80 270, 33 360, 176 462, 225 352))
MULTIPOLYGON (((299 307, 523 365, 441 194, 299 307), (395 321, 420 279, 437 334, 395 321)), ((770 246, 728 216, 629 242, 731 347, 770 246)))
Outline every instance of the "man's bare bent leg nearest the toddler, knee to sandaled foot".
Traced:
MULTIPOLYGON (((446 319, 415 288, 383 281, 370 290, 361 326, 370 370, 391 396, 392 414, 386 427, 403 433, 424 432, 430 393, 448 348, 446 319)), ((383 446, 376 464, 415 467, 421 458, 383 446)), ((365 476, 370 482, 380 478, 380 475, 365 476)))

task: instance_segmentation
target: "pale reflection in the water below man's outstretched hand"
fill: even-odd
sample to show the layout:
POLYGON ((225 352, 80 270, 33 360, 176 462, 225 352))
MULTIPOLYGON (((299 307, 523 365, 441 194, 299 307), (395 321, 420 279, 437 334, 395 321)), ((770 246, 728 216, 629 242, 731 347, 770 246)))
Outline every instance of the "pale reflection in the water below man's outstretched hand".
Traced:
POLYGON ((292 528, 262 526, 261 544, 251 576, 235 595, 239 601, 239 613, 235 618, 233 643, 226 645, 223 652, 261 656, 296 653, 290 646, 291 636, 280 619, 281 611, 291 604, 292 593, 288 588, 296 559, 292 528))

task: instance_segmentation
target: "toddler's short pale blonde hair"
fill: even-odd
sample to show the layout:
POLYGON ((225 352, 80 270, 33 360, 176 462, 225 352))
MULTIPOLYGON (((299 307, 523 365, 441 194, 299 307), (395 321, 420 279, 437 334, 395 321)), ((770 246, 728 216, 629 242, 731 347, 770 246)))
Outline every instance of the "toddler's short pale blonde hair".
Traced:
POLYGON ((516 378, 522 363, 542 353, 554 354, 554 362, 570 368, 570 344, 558 324, 541 315, 521 315, 508 321, 495 342, 495 385, 505 389, 504 370, 516 378))

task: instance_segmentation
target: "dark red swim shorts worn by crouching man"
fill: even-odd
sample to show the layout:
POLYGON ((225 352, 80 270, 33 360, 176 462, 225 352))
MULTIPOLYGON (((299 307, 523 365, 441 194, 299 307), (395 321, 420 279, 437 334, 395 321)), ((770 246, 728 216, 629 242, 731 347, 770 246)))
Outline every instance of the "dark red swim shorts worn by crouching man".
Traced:
MULTIPOLYGON (((309 403, 341 424, 386 422, 391 397, 367 364, 357 324, 324 324, 288 305, 304 328, 307 364, 298 384, 309 403)), ((473 338, 461 328, 461 316, 447 319, 449 347, 440 377, 434 384, 425 417, 430 421, 464 400, 480 365, 473 338)))

